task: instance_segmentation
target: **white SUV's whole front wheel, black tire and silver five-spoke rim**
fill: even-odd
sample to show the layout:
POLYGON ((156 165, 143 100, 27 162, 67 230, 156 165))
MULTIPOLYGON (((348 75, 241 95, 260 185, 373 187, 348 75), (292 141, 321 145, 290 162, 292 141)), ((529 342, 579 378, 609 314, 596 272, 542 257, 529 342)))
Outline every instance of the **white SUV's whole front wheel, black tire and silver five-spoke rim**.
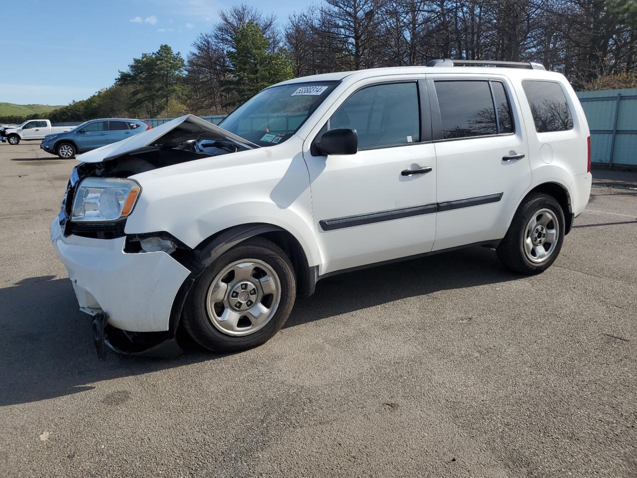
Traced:
POLYGON ((199 276, 183 325, 211 351, 250 349, 282 328, 295 297, 289 257, 275 243, 252 238, 225 252, 199 276))

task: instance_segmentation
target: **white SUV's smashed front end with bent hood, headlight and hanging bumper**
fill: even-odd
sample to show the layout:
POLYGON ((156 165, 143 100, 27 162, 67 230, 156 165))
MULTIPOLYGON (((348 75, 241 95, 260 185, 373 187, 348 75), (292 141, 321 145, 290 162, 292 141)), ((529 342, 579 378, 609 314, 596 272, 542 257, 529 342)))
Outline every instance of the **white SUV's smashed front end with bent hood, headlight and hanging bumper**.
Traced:
POLYGON ((169 233, 125 234, 136 200, 132 198, 134 189, 135 194, 143 194, 143 185, 129 178, 253 148, 258 146, 186 115, 78 156, 82 163, 69 177, 62 208, 52 225, 52 242, 67 267, 80 310, 92 316, 92 335, 100 358, 104 358, 106 347, 136 356, 182 353, 176 340, 178 324, 189 289, 201 273, 196 252, 169 233), (108 184, 104 186, 104 182, 108 184), (139 187, 126 187, 132 183, 139 187), (107 187, 109 184, 112 187, 107 187), (120 278, 117 272, 126 277, 120 278), (136 277, 131 279, 131 275, 136 277), (120 282, 127 280, 134 282, 134 291, 120 282), (180 284, 176 291, 162 290, 176 284, 180 284), (131 296, 133 293, 138 295, 131 296), (143 301, 152 304, 145 307, 143 301), (127 306, 141 310, 127 310, 127 306), (157 317, 162 310, 165 316, 157 317), (145 314, 150 315, 148 320, 145 314))

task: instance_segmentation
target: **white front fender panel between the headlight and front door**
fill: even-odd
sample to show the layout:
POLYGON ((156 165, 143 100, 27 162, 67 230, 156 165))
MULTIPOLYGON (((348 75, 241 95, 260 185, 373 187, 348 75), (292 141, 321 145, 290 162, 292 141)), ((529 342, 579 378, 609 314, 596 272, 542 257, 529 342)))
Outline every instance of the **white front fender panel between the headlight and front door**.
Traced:
POLYGON ((273 156, 262 148, 181 164, 171 174, 169 167, 161 174, 135 175, 142 192, 125 233, 166 231, 194 249, 224 229, 271 224, 294 236, 308 265, 317 265, 310 178, 303 156, 273 156), (210 168, 203 167, 207 164, 210 168))

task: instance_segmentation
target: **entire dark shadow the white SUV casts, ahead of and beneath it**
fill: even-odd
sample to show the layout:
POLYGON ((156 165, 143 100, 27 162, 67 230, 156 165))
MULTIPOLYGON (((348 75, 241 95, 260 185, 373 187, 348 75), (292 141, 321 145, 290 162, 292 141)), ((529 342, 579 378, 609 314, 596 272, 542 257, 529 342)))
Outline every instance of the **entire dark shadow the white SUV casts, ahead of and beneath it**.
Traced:
MULTIPOLYGON (((350 272, 318 282, 316 293, 299 298, 286 327, 351 310, 443 289, 519 279, 483 247, 350 272)), ((29 403, 93 389, 115 379, 222 357, 190 345, 171 359, 108 354, 99 361, 90 319, 78 310, 69 279, 31 277, 0 289, 0 406, 29 403)))

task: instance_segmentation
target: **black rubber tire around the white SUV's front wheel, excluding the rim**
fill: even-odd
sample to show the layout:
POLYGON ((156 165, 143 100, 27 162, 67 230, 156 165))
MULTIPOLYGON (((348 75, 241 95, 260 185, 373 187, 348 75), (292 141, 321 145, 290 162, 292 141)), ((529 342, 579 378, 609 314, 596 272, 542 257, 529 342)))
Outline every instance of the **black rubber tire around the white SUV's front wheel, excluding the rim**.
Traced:
POLYGON ((228 250, 201 273, 192 287, 184 307, 183 326, 199 345, 213 352, 238 352, 264 344, 285 324, 296 298, 296 277, 289 257, 275 243, 264 238, 245 240, 228 250), (263 328, 250 335, 233 337, 220 331, 208 317, 208 289, 217 275, 229 264, 243 259, 257 259, 268 264, 280 282, 278 307, 263 328))

